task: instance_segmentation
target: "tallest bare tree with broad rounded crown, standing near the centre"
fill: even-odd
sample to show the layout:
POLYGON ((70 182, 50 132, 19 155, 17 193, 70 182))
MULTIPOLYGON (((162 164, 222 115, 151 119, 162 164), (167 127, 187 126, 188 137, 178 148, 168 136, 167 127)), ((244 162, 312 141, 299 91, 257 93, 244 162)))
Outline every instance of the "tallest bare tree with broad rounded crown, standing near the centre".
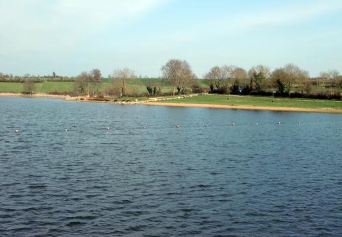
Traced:
POLYGON ((163 72, 163 77, 167 78, 172 86, 174 86, 173 93, 177 89, 179 95, 181 95, 181 90, 185 92, 189 82, 196 77, 192 73, 189 63, 185 60, 169 60, 161 67, 161 71, 163 72))

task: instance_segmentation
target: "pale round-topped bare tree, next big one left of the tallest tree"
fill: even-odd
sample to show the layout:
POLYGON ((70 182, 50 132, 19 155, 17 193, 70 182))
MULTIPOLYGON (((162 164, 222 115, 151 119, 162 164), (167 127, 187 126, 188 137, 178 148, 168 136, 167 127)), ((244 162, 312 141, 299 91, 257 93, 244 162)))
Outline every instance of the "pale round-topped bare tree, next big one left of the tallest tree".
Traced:
POLYGON ((136 78, 133 70, 129 68, 118 68, 109 77, 111 87, 114 91, 120 93, 120 97, 127 95, 128 80, 136 78))

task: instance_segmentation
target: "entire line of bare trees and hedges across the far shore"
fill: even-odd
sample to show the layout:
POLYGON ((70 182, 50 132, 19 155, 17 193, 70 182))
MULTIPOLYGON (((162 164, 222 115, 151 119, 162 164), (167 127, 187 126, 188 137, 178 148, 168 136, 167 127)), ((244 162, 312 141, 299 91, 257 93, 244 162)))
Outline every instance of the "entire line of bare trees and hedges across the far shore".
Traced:
MULTIPOLYGON (((199 80, 185 60, 172 59, 161 66, 162 78, 172 85, 172 95, 181 95, 188 92, 211 92, 220 94, 264 95, 272 92, 276 95, 311 95, 313 87, 316 88, 342 88, 342 76, 337 70, 321 72, 317 78, 310 78, 308 71, 294 64, 286 64, 271 71, 269 66, 252 66, 248 71, 235 65, 213 66, 203 76, 207 88, 202 88, 199 80), (295 93, 293 92, 295 90, 295 93)), ((23 75, 13 77, 0 73, 0 81, 11 82, 11 79, 20 78, 21 82, 41 82, 42 77, 23 75)), ((133 89, 129 90, 129 81, 136 79, 134 71, 130 68, 118 68, 109 75, 109 86, 101 90, 103 76, 97 68, 89 72, 82 72, 77 77, 58 77, 53 73, 44 79, 63 78, 65 81, 75 82, 74 94, 89 96, 114 95, 117 97, 138 95, 133 89), (133 90, 133 91, 132 91, 133 90)), ((62 80, 62 79, 61 79, 62 80)), ((164 95, 163 80, 151 82, 146 79, 144 85, 148 96, 164 95)), ((336 92, 337 94, 337 92, 336 92)), ((340 95, 340 94, 339 94, 340 95)))

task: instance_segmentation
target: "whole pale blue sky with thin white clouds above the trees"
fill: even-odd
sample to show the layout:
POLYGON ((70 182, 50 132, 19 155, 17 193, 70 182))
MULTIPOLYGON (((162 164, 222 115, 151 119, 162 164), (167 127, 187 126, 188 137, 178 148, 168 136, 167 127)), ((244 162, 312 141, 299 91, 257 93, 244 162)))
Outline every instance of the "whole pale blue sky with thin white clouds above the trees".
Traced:
POLYGON ((161 76, 170 59, 342 73, 341 0, 0 0, 0 72, 161 76))

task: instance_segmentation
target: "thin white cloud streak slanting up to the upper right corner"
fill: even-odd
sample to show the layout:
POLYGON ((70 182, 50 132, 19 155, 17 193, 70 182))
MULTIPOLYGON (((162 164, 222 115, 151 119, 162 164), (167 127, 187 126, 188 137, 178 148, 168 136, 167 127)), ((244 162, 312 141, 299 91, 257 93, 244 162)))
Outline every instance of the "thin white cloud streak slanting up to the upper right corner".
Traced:
POLYGON ((206 36, 231 36, 250 29, 295 25, 311 21, 342 9, 342 1, 319 1, 310 4, 285 4, 281 9, 265 8, 257 12, 243 12, 229 17, 193 25, 191 29, 179 29, 173 35, 174 42, 195 42, 206 36))

